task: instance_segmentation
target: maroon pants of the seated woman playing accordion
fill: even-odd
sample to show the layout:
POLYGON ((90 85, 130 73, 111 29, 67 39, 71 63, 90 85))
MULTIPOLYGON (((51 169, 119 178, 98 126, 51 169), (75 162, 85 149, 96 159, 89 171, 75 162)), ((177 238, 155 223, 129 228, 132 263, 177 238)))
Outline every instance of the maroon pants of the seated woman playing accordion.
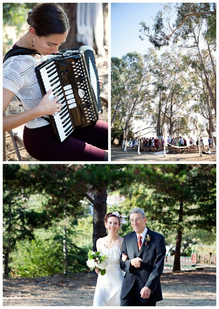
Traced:
POLYGON ((51 125, 23 131, 27 152, 39 161, 103 161, 108 149, 108 123, 98 120, 95 125, 76 129, 61 144, 51 125))

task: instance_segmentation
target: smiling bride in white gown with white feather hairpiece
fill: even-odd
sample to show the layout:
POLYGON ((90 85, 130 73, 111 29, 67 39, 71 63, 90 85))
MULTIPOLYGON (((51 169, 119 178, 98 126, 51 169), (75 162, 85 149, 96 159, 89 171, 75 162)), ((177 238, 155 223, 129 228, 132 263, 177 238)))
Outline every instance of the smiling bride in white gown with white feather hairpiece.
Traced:
MULTIPOLYGON (((104 217, 107 236, 99 238, 97 250, 101 250, 108 257, 108 266, 105 275, 98 275, 94 294, 93 306, 120 306, 120 293, 125 272, 120 269, 120 258, 123 238, 117 235, 122 223, 127 223, 118 211, 108 213, 104 217)), ((122 260, 128 257, 122 255, 122 260)), ((95 269, 96 273, 99 270, 95 269)))

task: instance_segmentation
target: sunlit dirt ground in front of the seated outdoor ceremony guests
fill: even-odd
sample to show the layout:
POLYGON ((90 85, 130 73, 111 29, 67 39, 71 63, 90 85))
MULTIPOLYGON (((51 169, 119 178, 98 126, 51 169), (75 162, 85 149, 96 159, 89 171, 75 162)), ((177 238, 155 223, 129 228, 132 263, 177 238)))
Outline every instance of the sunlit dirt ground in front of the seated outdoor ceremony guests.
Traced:
POLYGON ((137 150, 127 150, 124 152, 121 148, 112 147, 111 148, 111 160, 112 161, 216 161, 215 155, 203 155, 200 157, 199 153, 195 154, 168 154, 164 158, 161 154, 156 153, 143 153, 137 154, 137 150))

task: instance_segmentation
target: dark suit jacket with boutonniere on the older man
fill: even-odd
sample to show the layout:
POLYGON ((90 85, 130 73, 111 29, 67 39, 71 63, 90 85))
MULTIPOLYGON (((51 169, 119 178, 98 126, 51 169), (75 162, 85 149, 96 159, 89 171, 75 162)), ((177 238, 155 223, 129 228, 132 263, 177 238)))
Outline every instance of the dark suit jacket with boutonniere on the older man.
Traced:
POLYGON ((128 255, 125 262, 120 260, 121 269, 126 272, 122 284, 120 298, 124 298, 131 290, 137 280, 138 295, 141 303, 152 303, 162 300, 160 277, 163 272, 166 247, 164 237, 147 227, 147 235, 150 236, 149 245, 146 246, 146 239, 142 241, 140 251, 137 245, 136 232, 131 232, 124 236, 122 252, 128 255), (142 259, 141 266, 136 268, 130 266, 130 261, 136 257, 142 259), (141 298, 140 291, 146 286, 151 289, 149 298, 141 298))

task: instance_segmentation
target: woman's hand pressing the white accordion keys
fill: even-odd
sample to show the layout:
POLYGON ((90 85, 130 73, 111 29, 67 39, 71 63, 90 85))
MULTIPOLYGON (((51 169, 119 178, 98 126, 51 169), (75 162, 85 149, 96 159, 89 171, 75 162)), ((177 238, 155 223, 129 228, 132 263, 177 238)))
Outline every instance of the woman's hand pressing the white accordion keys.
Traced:
POLYGON ((36 107, 39 112, 40 117, 44 115, 55 115, 56 112, 61 111, 62 104, 56 103, 58 97, 50 100, 49 96, 52 94, 52 89, 50 89, 42 98, 39 105, 36 107))

